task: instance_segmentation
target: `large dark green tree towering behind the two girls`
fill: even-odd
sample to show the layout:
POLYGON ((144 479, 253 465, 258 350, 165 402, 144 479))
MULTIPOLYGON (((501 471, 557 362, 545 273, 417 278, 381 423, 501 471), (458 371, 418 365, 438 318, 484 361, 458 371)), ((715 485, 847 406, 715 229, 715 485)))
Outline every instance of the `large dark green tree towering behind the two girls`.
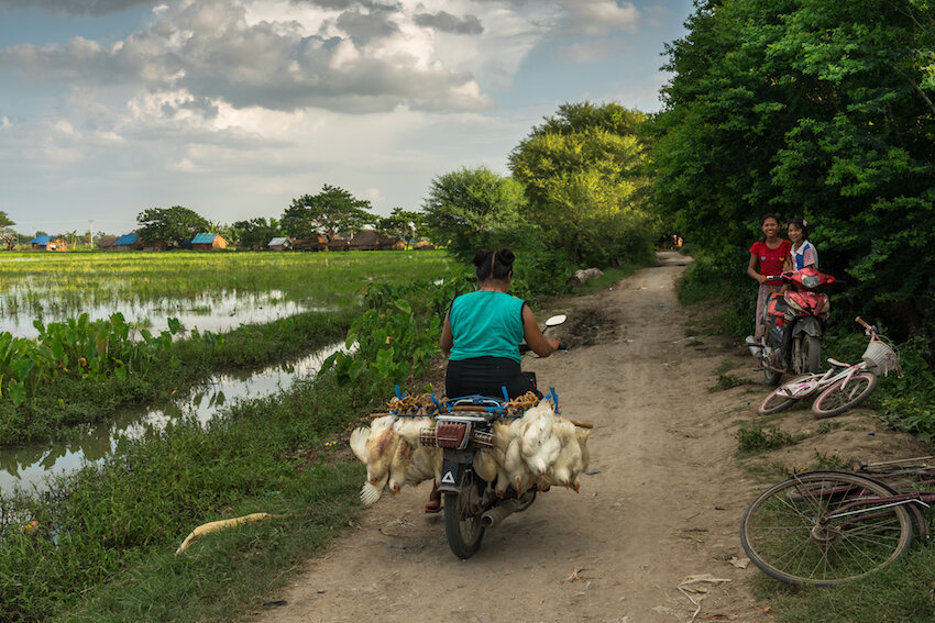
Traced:
POLYGON ((762 213, 804 215, 851 308, 933 329, 930 1, 697 2, 686 26, 654 124, 660 208, 739 275, 762 213))

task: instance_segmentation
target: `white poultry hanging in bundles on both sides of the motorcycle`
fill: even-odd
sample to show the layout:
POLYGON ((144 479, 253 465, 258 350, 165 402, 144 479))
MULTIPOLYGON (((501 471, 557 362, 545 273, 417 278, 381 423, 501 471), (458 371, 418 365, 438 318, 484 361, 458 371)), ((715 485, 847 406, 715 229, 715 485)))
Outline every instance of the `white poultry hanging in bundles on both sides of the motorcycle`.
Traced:
MULTIPOLYGON (((536 400, 538 404, 521 415, 495 421, 493 447, 474 454, 474 472, 495 483, 499 497, 505 497, 509 487, 519 496, 534 486, 540 491, 553 485, 579 491, 581 475, 587 469, 591 431, 558 415, 550 400, 536 400)), ((351 433, 351 448, 367 469, 361 489, 365 505, 376 502, 385 488, 396 494, 404 485, 430 478, 439 482, 442 448, 419 443, 420 431, 433 426, 431 416, 391 414, 351 433)))

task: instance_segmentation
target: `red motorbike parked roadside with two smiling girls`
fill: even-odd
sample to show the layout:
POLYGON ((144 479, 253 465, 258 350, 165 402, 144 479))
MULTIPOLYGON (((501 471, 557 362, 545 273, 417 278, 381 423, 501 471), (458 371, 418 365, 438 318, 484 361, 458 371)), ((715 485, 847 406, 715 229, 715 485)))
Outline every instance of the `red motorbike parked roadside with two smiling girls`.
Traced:
POLYGON ((783 372, 801 375, 821 369, 831 300, 817 290, 835 282, 831 275, 811 267, 770 277, 777 278, 789 289, 770 294, 763 310, 763 336, 759 341, 747 337, 750 353, 762 363, 763 380, 772 386, 779 385, 783 372))

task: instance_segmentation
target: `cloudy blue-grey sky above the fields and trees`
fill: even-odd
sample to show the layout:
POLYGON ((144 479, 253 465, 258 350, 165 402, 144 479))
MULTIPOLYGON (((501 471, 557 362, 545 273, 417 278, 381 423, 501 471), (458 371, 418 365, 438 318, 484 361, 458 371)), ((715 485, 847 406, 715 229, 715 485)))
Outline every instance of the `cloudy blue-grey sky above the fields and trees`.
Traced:
POLYGON ((339 186, 421 205, 561 103, 656 111, 691 0, 0 0, 0 210, 124 233, 339 186))

